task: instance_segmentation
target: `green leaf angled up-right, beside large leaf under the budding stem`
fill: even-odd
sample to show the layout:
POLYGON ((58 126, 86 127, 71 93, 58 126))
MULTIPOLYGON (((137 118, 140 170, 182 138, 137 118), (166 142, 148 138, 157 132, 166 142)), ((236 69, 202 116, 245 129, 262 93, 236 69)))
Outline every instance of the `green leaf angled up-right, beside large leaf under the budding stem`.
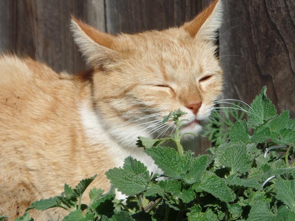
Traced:
POLYGON ((183 178, 186 184, 193 184, 201 179, 206 168, 210 165, 212 161, 211 158, 209 160, 208 156, 209 155, 202 155, 193 159, 191 169, 183 178))

